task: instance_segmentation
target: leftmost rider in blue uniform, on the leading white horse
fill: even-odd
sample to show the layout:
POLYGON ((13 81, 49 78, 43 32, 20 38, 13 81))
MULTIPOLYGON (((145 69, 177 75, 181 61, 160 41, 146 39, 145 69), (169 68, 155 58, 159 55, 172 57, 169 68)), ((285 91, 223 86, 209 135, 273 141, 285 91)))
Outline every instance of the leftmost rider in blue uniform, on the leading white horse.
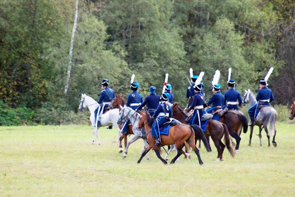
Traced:
MULTIPOLYGON (((105 111, 106 108, 109 107, 109 104, 113 101, 113 99, 116 97, 114 90, 110 89, 108 87, 109 85, 109 80, 107 79, 103 79, 102 83, 101 83, 101 93, 100 93, 100 97, 97 101, 97 103, 99 103, 99 107, 96 108, 96 110, 94 111, 94 116, 95 116, 95 121, 96 121, 96 116, 97 116, 97 112, 99 109, 98 114, 101 113, 101 110, 103 110, 103 112, 105 111)), ((100 116, 98 117, 97 120, 97 126, 100 127, 100 116)))

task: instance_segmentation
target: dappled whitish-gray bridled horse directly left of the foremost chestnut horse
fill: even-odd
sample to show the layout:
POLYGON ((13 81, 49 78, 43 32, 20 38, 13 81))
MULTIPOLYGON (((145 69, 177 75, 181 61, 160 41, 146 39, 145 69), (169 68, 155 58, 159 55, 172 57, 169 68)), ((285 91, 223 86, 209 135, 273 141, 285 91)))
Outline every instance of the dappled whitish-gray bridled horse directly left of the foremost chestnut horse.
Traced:
MULTIPOLYGON (((129 107, 122 107, 120 106, 121 111, 119 112, 119 118, 118 118, 118 122, 123 123, 125 122, 127 119, 130 120, 130 122, 132 123, 132 131, 134 134, 134 137, 132 138, 131 141, 129 141, 125 147, 125 151, 123 154, 123 158, 127 157, 127 151, 128 151, 128 147, 131 143, 133 143, 134 141, 137 141, 138 139, 143 139, 145 142, 145 147, 142 149, 141 154, 144 152, 144 150, 148 147, 148 141, 146 137, 142 137, 142 131, 137 129, 138 123, 139 123, 139 118, 140 118, 140 113, 135 112, 134 110, 132 110, 129 107)), ((149 159, 149 154, 147 153, 147 160, 149 159)))

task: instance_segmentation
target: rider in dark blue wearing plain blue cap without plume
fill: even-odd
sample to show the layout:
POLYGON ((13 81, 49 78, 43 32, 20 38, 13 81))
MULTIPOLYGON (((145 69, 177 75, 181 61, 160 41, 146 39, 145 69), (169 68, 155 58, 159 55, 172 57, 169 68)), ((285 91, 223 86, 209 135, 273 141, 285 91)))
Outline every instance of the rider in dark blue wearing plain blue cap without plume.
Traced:
POLYGON ((145 101, 136 109, 136 111, 141 110, 145 105, 148 107, 148 113, 152 116, 160 102, 160 95, 155 94, 156 87, 149 87, 149 95, 145 98, 145 101))

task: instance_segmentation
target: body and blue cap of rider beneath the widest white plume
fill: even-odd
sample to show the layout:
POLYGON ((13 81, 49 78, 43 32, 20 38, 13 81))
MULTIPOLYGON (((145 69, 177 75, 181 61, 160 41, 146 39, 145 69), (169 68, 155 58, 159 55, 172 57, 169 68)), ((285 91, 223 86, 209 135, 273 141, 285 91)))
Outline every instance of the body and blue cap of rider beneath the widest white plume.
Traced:
POLYGON ((224 96, 220 92, 220 84, 213 85, 212 91, 214 94, 207 102, 207 105, 212 104, 212 107, 206 110, 207 113, 214 113, 215 111, 221 109, 224 104, 224 96))

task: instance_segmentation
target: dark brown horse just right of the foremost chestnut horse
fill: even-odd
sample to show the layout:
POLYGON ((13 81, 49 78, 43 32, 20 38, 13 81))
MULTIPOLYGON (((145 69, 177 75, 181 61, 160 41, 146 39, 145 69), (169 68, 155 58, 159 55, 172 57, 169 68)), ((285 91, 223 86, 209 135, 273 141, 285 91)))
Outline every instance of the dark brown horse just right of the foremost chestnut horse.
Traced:
MULTIPOLYGON (((180 122, 184 123, 187 116, 183 113, 183 110, 178 107, 179 103, 174 103, 172 107, 174 117, 180 122)), ((196 134, 197 135, 197 134, 196 134)), ((235 157, 235 151, 231 146, 230 134, 227 126, 224 123, 216 120, 209 120, 207 122, 205 136, 207 139, 211 136, 212 141, 217 149, 218 155, 216 161, 222 161, 222 155, 225 146, 230 152, 231 156, 235 157), (222 143, 221 139, 225 136, 225 144, 222 143)), ((209 141, 208 141, 209 144, 209 141)), ((209 145, 210 146, 210 145, 209 145)), ((211 148, 210 148, 211 149, 211 148)))

